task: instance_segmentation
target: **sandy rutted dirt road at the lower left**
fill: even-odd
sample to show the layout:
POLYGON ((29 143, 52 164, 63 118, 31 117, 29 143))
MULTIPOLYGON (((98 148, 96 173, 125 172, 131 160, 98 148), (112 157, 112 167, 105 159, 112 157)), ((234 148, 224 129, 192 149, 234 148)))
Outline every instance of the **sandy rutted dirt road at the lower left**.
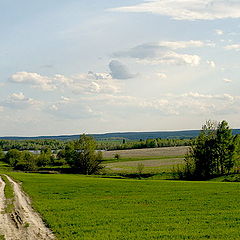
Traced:
POLYGON ((13 186, 14 210, 6 213, 4 187, 0 177, 0 235, 5 240, 51 240, 52 232, 44 225, 41 217, 33 210, 30 199, 21 190, 20 186, 6 176, 13 186))

